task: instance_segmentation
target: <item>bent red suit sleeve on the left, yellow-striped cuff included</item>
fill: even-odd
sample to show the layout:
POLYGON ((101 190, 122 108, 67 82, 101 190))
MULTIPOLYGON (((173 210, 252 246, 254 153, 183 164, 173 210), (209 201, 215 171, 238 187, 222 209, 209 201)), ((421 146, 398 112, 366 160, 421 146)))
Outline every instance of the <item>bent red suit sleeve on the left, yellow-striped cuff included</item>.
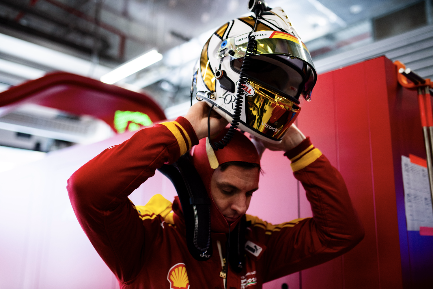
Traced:
POLYGON ((160 227, 144 223, 128 195, 155 169, 176 161, 197 143, 191 124, 179 117, 105 149, 68 179, 69 198, 81 227, 120 281, 139 273, 144 249, 160 227))

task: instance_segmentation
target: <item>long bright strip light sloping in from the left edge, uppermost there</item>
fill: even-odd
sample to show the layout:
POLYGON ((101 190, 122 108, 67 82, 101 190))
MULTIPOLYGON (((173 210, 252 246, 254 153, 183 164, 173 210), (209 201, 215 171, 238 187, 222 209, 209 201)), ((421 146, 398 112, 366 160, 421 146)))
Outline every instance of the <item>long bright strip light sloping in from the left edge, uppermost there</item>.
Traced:
MULTIPOLYGON (((90 61, 1 33, 0 52, 26 59, 31 62, 36 62, 57 70, 84 76, 88 76, 92 67, 90 61)), ((110 71, 110 68, 96 65, 94 75, 96 78, 99 78, 108 71, 110 71)))

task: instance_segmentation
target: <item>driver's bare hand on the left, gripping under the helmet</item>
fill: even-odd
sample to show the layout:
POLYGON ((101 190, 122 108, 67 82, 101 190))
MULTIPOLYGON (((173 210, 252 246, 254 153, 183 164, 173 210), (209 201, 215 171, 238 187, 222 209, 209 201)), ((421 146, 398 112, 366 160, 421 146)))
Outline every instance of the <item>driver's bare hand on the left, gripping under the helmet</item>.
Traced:
MULTIPOLYGON (((190 107, 184 116, 191 123, 199 140, 207 137, 207 115, 209 110, 210 107, 205 101, 199 101, 190 107)), ((224 117, 212 110, 210 113, 210 135, 219 133, 227 124, 228 122, 224 117)))

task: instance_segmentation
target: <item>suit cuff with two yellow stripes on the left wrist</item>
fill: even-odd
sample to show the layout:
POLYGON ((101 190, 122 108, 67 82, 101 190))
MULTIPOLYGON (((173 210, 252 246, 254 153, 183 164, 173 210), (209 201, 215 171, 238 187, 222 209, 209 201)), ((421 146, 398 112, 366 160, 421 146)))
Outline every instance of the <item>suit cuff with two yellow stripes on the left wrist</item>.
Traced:
POLYGON ((189 151, 193 146, 198 144, 197 135, 191 123, 184 117, 178 117, 171 122, 160 123, 167 127, 178 141, 181 155, 189 151))

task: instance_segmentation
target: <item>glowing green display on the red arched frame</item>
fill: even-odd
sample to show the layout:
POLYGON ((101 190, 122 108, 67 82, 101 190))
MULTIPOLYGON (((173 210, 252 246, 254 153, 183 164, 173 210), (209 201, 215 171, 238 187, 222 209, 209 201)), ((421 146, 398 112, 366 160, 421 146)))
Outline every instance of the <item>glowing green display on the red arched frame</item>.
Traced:
POLYGON ((128 127, 129 131, 139 130, 139 124, 147 127, 152 124, 152 120, 150 120, 147 114, 139 111, 116 110, 114 113, 114 128, 117 130, 117 133, 124 133, 126 127, 128 127))

